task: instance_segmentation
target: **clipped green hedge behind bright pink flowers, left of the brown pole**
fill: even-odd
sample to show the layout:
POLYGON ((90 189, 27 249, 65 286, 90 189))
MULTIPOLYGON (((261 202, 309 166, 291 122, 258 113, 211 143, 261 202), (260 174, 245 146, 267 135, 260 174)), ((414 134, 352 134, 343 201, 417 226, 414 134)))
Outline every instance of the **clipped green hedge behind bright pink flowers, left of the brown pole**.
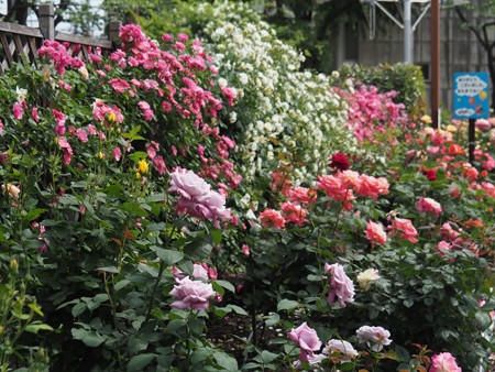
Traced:
POLYGON ((396 103, 404 103, 411 120, 426 112, 425 79, 420 67, 407 64, 360 66, 344 65, 339 69, 341 77, 352 78, 365 85, 373 85, 381 92, 395 90, 396 103))

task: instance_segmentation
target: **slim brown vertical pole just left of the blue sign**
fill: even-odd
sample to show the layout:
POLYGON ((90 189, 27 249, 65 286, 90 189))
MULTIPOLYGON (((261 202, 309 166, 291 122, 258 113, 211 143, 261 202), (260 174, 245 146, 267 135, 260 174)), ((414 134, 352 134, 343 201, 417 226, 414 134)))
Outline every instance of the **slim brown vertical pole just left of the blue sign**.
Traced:
POLYGON ((440 0, 431 0, 431 89, 432 127, 439 128, 440 103, 440 0))

